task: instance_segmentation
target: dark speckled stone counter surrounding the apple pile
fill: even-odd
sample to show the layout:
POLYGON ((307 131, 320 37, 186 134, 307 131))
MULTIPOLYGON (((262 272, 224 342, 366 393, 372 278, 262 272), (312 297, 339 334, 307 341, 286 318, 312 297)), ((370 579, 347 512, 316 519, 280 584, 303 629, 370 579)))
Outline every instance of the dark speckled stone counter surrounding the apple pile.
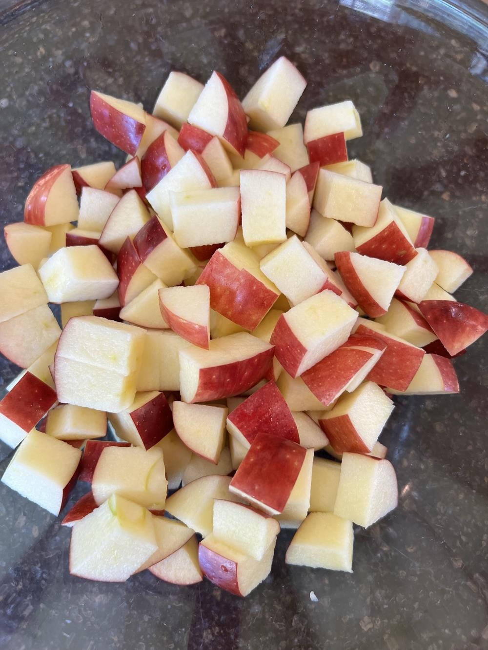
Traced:
MULTIPOLYGON (((456 34, 446 6, 428 2, 423 11, 437 6, 437 18, 414 3, 349 0, 34 5, 1 19, 2 224, 21 220, 29 187, 52 164, 124 159, 92 128, 90 88, 150 110, 169 70, 205 81, 216 68, 242 96, 286 54, 308 79, 295 118, 353 99, 364 137, 350 143, 351 157, 373 166, 385 196, 437 217, 431 246, 455 248, 474 266, 458 299, 488 310, 483 25, 472 23, 472 38, 456 34)), ((452 15, 466 31, 470 23, 452 15)), ((3 243, 0 254, 12 266, 3 243)), ((482 339, 455 360, 461 395, 396 400, 381 442, 400 506, 356 530, 352 574, 286 566, 284 532, 271 575, 245 600, 148 572, 126 584, 83 581, 68 573, 69 531, 0 484, 0 647, 488 648, 487 346, 482 339)), ((16 372, 0 361, 0 390, 16 372)), ((10 454, 0 448, 0 472, 10 454)))

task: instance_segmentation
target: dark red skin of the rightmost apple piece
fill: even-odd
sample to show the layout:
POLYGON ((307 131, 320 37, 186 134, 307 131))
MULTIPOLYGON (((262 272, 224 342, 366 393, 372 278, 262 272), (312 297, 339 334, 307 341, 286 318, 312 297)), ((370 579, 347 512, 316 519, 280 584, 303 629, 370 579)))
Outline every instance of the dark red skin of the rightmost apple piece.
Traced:
POLYGON ((477 341, 488 330, 488 316, 463 302, 422 300, 418 308, 451 356, 477 341))

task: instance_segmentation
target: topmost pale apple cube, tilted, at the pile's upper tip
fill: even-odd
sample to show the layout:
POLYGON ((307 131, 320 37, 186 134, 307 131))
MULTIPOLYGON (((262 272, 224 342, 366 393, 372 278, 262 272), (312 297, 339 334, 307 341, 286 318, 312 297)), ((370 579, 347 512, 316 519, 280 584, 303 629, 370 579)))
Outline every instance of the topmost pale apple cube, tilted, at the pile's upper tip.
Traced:
POLYGON ((286 57, 277 59, 243 99, 251 129, 270 131, 284 127, 305 86, 305 79, 291 61, 286 57))

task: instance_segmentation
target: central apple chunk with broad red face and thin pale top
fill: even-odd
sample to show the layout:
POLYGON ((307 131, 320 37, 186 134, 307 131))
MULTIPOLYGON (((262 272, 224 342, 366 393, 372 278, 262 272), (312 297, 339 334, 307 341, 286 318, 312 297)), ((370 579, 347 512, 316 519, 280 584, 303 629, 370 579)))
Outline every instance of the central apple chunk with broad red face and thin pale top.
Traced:
POLYGON ((210 287, 210 307, 247 330, 260 324, 280 294, 259 263, 247 246, 230 242, 213 253, 197 280, 210 287))

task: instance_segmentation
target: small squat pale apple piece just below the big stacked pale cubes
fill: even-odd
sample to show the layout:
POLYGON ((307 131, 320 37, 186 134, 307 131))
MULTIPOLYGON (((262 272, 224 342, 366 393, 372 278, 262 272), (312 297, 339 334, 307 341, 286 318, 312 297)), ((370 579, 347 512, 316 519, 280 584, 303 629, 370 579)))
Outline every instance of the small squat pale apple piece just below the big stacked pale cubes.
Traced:
POLYGON ((47 413, 46 434, 59 440, 102 438, 107 433, 107 413, 73 404, 61 404, 47 413))

